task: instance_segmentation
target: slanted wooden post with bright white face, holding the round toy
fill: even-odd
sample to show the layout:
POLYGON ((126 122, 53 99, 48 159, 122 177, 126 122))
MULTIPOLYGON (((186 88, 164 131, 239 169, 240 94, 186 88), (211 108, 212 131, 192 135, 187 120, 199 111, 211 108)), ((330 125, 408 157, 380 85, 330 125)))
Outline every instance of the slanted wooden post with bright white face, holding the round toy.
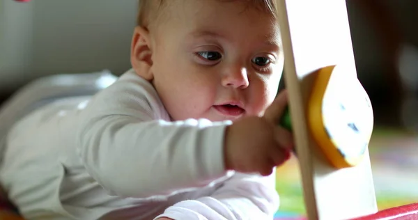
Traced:
MULTIPOLYGON (((276 0, 284 80, 308 219, 350 219, 377 212, 369 151, 357 166, 335 168, 318 148, 307 118, 316 70, 336 65, 334 83, 359 84, 345 0, 276 0)), ((341 84, 342 85, 342 84, 341 84)))

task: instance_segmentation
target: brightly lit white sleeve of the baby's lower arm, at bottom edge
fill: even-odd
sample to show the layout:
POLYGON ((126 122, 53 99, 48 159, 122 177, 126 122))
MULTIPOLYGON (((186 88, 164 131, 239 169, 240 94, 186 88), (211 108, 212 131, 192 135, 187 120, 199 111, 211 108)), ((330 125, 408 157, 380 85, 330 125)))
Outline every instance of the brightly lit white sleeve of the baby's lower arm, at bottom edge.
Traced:
POLYGON ((279 207, 274 173, 267 177, 235 173, 211 196, 176 203, 155 219, 273 219, 279 207))

